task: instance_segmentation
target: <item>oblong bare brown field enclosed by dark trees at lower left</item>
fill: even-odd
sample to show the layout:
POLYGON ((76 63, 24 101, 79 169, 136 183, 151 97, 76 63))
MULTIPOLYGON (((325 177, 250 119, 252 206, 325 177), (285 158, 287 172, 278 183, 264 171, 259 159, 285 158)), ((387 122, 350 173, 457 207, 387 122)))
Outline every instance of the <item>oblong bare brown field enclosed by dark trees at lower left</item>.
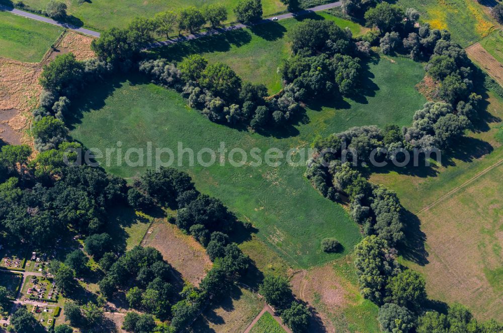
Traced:
POLYGON ((201 244, 165 220, 156 220, 152 224, 141 245, 159 250, 164 260, 180 272, 185 281, 196 286, 212 265, 201 244))

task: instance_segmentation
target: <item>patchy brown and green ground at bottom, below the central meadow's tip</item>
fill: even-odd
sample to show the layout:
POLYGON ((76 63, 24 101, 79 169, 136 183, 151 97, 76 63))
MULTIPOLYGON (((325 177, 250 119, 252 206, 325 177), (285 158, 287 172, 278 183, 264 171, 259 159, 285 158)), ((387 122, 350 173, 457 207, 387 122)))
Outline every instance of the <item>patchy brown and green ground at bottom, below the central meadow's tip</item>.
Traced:
POLYGON ((313 332, 379 332, 377 306, 361 296, 352 261, 348 256, 292 277, 295 296, 316 313, 313 332))

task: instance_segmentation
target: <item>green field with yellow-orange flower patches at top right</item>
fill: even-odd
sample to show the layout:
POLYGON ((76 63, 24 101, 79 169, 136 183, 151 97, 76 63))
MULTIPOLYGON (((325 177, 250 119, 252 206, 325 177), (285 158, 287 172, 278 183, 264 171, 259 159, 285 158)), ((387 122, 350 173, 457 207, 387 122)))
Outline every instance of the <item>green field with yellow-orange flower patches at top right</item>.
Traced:
POLYGON ((473 0, 398 0, 402 8, 415 8, 421 21, 437 29, 447 29, 452 40, 466 47, 487 36, 494 26, 490 18, 473 0))

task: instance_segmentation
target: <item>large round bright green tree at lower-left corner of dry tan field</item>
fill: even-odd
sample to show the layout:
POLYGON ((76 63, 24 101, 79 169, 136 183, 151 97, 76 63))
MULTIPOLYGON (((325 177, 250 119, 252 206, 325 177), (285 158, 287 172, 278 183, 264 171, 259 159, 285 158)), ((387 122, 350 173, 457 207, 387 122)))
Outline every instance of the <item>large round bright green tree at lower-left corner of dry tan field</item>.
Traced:
POLYGON ((385 301, 418 310, 426 300, 425 286, 423 276, 411 269, 404 270, 388 281, 385 301))

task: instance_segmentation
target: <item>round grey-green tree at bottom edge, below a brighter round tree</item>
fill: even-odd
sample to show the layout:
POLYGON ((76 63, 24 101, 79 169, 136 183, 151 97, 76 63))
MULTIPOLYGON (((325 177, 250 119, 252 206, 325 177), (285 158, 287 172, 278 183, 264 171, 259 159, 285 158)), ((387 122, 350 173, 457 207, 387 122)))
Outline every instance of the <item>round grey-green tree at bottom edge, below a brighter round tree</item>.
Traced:
POLYGON ((414 327, 414 317, 406 308, 393 303, 385 303, 379 308, 377 320, 385 333, 407 333, 414 327))

